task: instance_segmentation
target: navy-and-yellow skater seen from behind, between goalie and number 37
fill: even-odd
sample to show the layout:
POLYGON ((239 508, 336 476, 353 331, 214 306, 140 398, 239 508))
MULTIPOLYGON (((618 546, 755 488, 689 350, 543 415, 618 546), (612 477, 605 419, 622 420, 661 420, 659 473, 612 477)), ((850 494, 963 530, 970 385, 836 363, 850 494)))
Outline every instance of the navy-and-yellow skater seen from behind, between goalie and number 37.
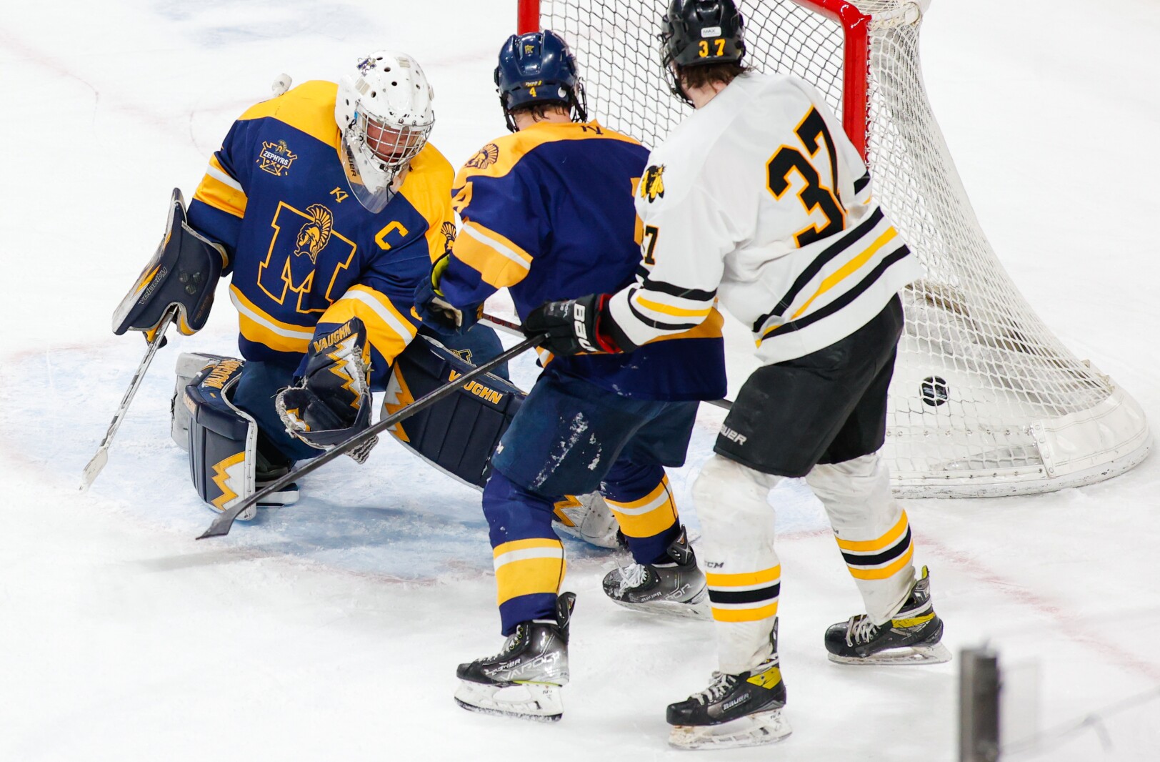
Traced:
MULTIPOLYGON (((508 288, 524 316, 549 299, 615 290, 640 260, 633 194, 647 150, 587 121, 565 42, 551 31, 512 36, 495 84, 512 135, 461 170, 463 218, 451 253, 415 295, 425 321, 470 325, 476 308, 508 288)), ((665 466, 684 462, 698 400, 725 393, 722 317, 635 355, 557 357, 544 366, 492 459, 483 505, 491 527, 503 650, 461 664, 465 709, 537 719, 560 716, 574 596, 559 595, 564 548, 552 531, 565 495, 600 489, 635 565, 606 592, 630 608, 703 612, 704 576, 680 524, 665 466), (530 696, 502 689, 523 685, 530 696)))

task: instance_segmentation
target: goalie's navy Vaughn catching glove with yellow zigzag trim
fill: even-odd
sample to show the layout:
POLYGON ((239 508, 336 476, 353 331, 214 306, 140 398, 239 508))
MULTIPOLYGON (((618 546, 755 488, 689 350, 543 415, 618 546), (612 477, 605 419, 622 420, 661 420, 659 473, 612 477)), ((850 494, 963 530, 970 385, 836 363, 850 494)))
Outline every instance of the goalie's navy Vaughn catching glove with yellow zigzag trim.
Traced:
MULTIPOLYGON (((353 317, 310 343, 306 371, 275 400, 287 433, 311 447, 329 450, 370 426, 370 367, 363 357, 367 329, 353 317)), ((347 454, 362 463, 374 437, 347 454)))

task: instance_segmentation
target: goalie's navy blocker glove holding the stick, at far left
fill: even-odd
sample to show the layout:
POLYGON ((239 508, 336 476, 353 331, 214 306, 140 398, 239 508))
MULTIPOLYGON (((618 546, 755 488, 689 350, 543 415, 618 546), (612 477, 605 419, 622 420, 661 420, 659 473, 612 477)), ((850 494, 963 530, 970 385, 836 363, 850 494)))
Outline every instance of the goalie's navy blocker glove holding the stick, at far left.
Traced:
POLYGON ((165 312, 176 307, 177 330, 193 336, 205 325, 226 261, 220 244, 186 223, 186 200, 174 188, 165 237, 113 314, 113 332, 145 331, 152 338, 165 312))

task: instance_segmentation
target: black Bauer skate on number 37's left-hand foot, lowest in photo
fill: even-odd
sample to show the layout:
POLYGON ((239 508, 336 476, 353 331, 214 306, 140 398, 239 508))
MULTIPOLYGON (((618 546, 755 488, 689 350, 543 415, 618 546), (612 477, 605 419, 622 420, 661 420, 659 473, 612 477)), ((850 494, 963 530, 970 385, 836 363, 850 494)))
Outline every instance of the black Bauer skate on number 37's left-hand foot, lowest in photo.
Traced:
POLYGON ((782 718, 785 683, 777 661, 777 620, 769 637, 773 655, 747 673, 713 673, 705 690, 669 704, 665 719, 673 726, 668 742, 679 749, 727 749, 773 743, 790 734, 782 718))

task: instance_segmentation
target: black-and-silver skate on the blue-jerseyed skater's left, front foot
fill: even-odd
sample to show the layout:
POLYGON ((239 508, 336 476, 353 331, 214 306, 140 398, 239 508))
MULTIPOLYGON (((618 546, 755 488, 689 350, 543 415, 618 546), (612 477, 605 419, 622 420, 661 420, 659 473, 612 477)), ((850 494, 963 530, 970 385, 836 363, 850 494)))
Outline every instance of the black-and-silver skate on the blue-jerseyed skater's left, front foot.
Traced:
POLYGON ((521 621, 503 650, 467 664, 456 675, 455 703, 471 712, 554 723, 564 713, 559 690, 568 682, 568 623, 575 594, 556 601, 556 619, 521 621))

